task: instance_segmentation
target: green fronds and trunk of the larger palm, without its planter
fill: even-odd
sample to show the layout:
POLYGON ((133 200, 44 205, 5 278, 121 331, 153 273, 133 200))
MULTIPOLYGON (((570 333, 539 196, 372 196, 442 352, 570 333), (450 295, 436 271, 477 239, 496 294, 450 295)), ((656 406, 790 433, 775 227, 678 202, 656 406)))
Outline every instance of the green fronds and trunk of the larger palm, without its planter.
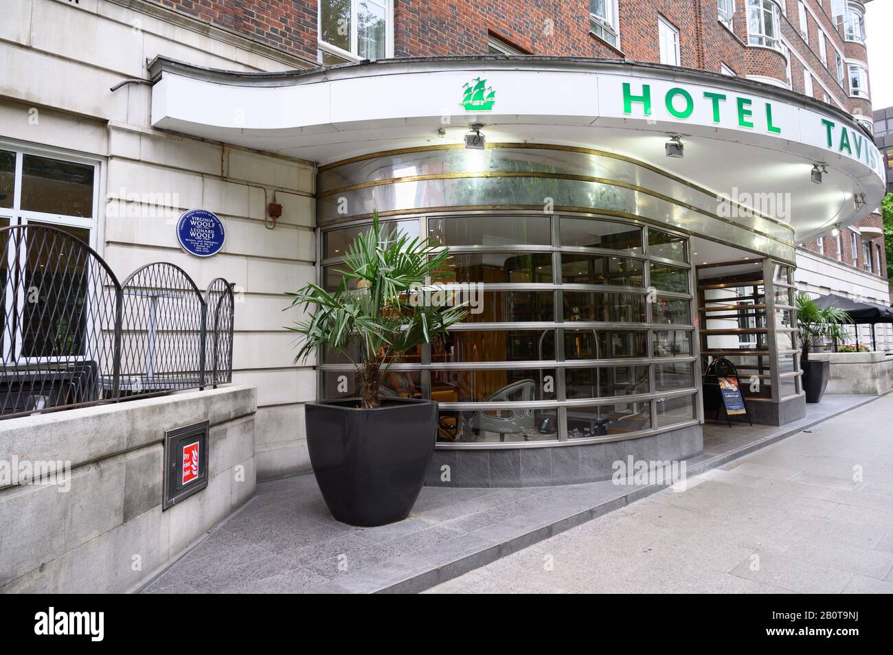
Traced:
MULTIPOLYGON (((329 293, 308 284, 291 307, 313 313, 288 327, 299 335, 295 361, 306 361, 322 346, 343 353, 359 380, 361 406, 380 405, 388 367, 404 352, 430 343, 465 316, 463 303, 435 306, 420 301, 432 284, 447 277, 449 253, 418 237, 381 229, 376 211, 369 231, 356 237, 344 256, 340 286, 329 293), (352 348, 359 356, 351 356, 352 348)), ((449 294, 446 294, 447 296, 449 294)))

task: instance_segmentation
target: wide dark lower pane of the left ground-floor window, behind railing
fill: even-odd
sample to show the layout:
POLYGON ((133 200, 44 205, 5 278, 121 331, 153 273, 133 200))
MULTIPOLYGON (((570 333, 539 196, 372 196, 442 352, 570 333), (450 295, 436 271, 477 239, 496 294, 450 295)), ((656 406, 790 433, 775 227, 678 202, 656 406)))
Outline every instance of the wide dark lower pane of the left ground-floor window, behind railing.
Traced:
MULTIPOLYGON (((36 220, 29 225, 58 228, 85 243, 90 231, 49 225, 36 220)), ((24 303, 22 310, 22 346, 24 357, 67 357, 83 353, 87 329, 88 263, 85 257, 59 258, 50 261, 48 244, 35 238, 54 236, 26 230, 28 261, 25 264, 25 288, 37 289, 37 299, 24 303), (45 272, 49 271, 49 272, 45 272)))

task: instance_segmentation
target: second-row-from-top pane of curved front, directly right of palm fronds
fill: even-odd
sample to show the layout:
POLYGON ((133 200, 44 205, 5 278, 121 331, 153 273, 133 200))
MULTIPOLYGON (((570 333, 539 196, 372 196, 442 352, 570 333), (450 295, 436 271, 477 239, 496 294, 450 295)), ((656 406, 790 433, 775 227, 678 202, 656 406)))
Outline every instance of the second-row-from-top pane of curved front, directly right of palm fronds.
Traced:
POLYGON ((455 253, 441 282, 551 283, 551 253, 455 253))

